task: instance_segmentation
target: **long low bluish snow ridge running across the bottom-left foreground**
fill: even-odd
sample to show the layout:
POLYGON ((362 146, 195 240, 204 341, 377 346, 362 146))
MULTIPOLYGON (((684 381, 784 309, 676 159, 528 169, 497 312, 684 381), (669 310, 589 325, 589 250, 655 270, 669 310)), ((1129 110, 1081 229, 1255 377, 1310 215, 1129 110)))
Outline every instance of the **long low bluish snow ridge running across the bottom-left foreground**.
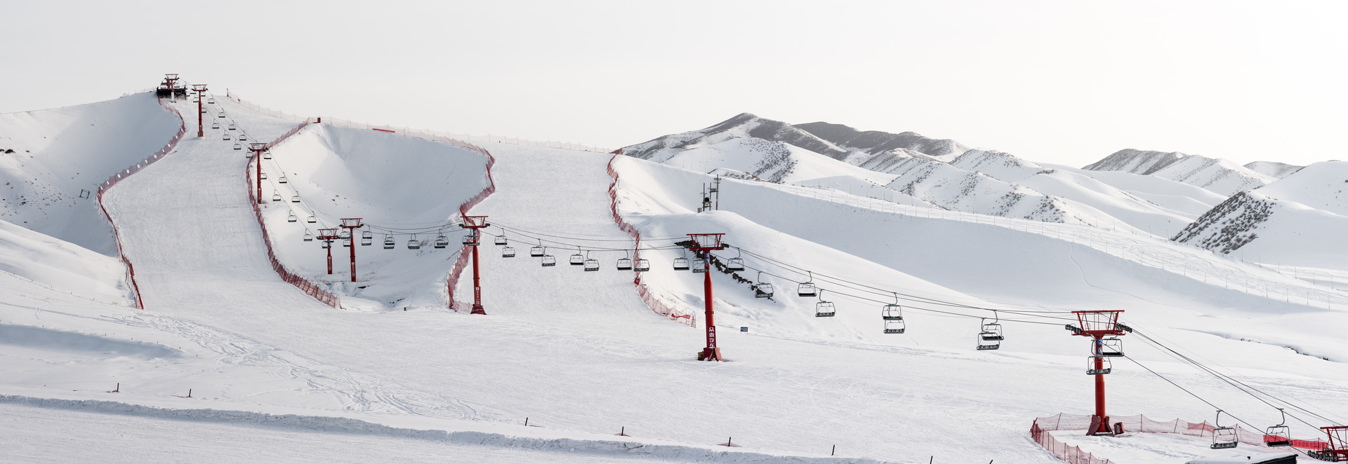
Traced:
POLYGON ((445 441, 469 445, 493 445, 519 449, 555 451, 555 452, 585 452, 594 455, 627 455, 650 456, 656 459, 678 459, 698 463, 851 463, 851 464, 880 464, 886 461, 875 459, 845 459, 845 457, 806 457, 780 456, 741 451, 718 451, 696 445, 682 445, 673 442, 651 444, 627 440, 586 440, 566 437, 528 437, 510 436, 504 433, 479 430, 435 430, 390 426, 348 417, 332 416, 299 416, 299 414, 268 414, 244 410, 218 409, 170 409, 158 406, 135 405, 120 401, 102 399, 61 399, 36 398, 16 394, 0 394, 0 403, 28 408, 47 408, 65 410, 88 410, 102 414, 121 414, 152 417, 178 421, 197 422, 225 422, 264 428, 301 429, 321 433, 356 433, 388 437, 402 437, 414 440, 445 441))

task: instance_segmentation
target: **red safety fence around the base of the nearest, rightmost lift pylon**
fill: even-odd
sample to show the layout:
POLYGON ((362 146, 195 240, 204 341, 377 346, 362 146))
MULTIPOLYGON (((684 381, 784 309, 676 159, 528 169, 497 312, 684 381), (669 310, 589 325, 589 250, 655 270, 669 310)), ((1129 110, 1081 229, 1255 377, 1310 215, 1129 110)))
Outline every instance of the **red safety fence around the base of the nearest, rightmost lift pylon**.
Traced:
MULTIPOLYGON (((1043 449, 1047 449, 1053 456, 1058 457, 1065 463, 1072 464, 1095 464, 1095 463, 1109 463, 1109 460, 1100 460, 1091 453, 1082 452, 1077 447, 1068 447, 1066 444, 1054 438, 1050 430, 1082 430, 1082 433, 1091 428, 1092 416, 1080 414, 1055 414, 1049 417, 1039 417, 1034 420, 1030 425, 1030 437, 1034 438, 1043 449)), ((1173 421, 1153 421, 1150 418, 1138 416, 1120 416, 1109 417, 1111 426, 1113 424, 1123 424, 1124 432, 1140 432, 1140 433, 1175 433, 1190 437, 1212 437, 1212 430, 1216 429, 1215 425, 1208 422, 1186 422, 1181 420, 1173 421)), ((1239 424, 1235 425, 1236 438, 1240 442, 1254 447, 1264 445, 1263 432, 1250 432, 1242 428, 1239 424)), ((1320 451, 1329 447, 1328 442, 1314 441, 1314 440, 1293 440, 1291 445, 1301 449, 1320 451)))

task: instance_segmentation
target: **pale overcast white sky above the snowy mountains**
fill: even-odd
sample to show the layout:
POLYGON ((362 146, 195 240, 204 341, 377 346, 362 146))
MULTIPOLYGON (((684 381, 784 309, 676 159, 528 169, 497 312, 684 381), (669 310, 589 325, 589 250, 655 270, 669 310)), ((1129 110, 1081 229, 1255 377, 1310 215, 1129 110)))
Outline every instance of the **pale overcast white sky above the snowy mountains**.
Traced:
POLYGON ((1343 1, 15 1, 0 113, 181 73, 303 114, 621 147, 741 112, 1035 161, 1348 159, 1343 1))

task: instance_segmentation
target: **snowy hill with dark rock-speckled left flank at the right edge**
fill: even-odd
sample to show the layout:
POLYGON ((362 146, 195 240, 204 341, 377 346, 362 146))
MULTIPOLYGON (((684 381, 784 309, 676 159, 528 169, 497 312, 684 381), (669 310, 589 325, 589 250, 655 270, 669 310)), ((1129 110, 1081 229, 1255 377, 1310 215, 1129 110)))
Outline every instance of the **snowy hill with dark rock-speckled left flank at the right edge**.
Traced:
POLYGON ((1277 265, 1348 270, 1348 217, 1240 192, 1174 237, 1177 242, 1277 265))

